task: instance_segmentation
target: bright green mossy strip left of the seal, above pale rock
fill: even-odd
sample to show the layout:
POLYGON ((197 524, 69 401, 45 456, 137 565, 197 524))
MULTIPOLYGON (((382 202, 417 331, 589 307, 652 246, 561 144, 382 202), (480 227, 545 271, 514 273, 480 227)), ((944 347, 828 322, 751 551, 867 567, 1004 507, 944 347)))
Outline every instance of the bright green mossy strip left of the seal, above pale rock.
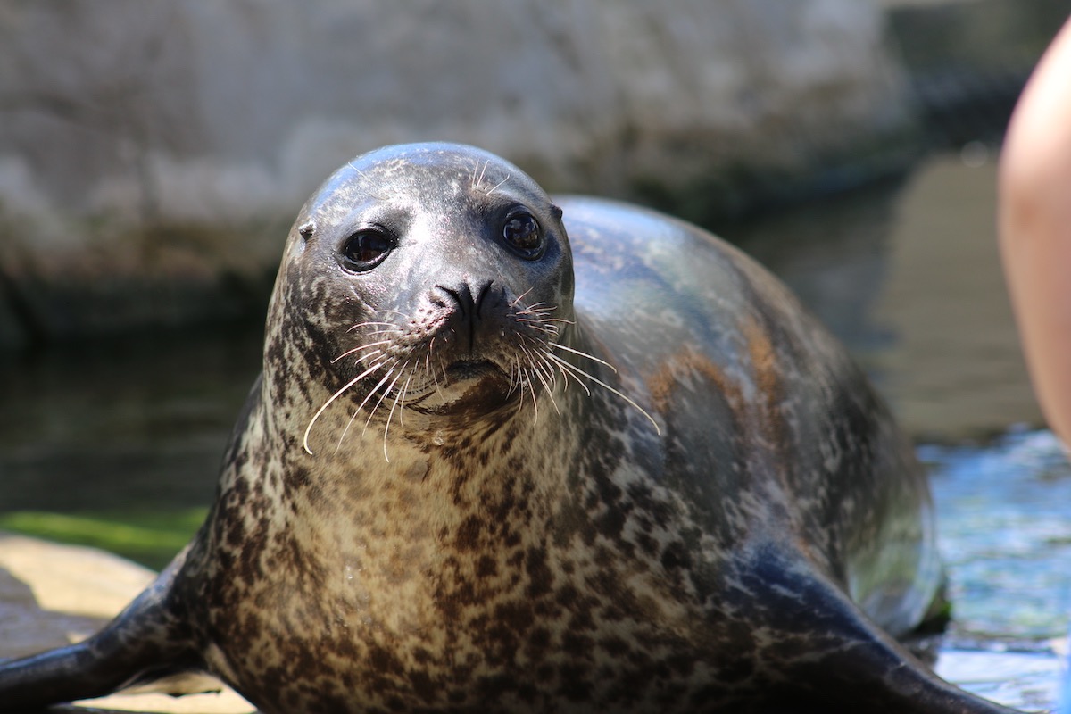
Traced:
POLYGON ((167 512, 0 514, 0 529, 49 541, 110 550, 160 569, 188 543, 205 520, 207 508, 167 512))

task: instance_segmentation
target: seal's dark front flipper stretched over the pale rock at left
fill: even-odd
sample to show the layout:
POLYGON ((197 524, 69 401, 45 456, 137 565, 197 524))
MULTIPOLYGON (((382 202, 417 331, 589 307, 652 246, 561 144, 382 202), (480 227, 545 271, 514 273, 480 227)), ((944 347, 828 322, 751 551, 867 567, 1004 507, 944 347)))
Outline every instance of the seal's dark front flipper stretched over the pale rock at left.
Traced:
POLYGON ((0 663, 0 712, 103 697, 175 674, 202 671, 192 637, 184 632, 168 599, 182 562, 182 556, 176 558, 93 637, 0 663))

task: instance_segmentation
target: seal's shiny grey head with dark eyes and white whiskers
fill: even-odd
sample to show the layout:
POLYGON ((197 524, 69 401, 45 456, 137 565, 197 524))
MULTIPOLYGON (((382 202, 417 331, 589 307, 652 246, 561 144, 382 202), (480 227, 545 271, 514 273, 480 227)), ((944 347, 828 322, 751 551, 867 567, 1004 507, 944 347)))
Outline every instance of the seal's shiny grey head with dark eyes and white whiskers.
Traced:
POLYGON ((547 344, 572 322, 560 209, 473 150, 350 162, 305 206, 284 256, 266 375, 285 394, 297 356, 333 390, 322 407, 345 396, 365 420, 412 411, 457 429, 533 399, 554 370, 547 344))

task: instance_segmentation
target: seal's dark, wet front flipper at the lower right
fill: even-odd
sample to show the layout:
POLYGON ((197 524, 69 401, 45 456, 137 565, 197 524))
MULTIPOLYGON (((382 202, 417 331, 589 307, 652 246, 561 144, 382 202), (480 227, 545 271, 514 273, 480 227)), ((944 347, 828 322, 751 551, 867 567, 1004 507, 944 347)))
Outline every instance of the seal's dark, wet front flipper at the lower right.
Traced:
MULTIPOLYGON (((765 712, 1012 714, 934 674, 875 625, 832 580, 778 545, 739 572, 738 605, 775 633, 761 658, 785 688, 765 712), (806 702, 802 709, 801 702, 806 702)), ((779 689, 781 687, 778 687, 779 689)))

